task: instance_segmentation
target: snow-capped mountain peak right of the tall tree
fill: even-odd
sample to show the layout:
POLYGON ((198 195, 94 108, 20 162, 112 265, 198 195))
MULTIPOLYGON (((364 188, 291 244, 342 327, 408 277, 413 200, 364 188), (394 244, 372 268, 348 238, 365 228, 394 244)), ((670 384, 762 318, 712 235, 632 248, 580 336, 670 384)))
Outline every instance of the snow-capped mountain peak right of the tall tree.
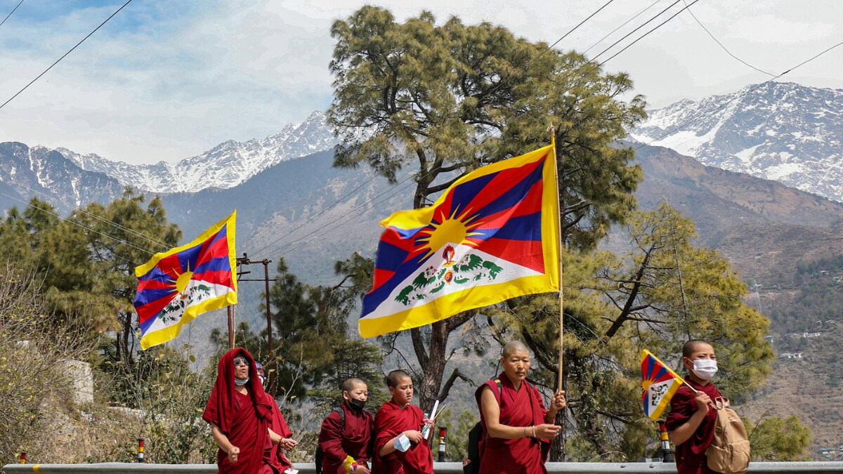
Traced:
POLYGON ((843 202, 843 89, 771 82, 681 100, 651 110, 630 135, 843 202))

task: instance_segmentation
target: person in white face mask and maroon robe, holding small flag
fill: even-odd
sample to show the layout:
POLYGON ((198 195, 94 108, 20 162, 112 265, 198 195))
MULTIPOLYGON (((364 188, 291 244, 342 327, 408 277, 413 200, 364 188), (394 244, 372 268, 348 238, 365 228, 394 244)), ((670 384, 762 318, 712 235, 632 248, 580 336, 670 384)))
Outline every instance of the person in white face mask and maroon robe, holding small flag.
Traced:
POLYGON ((685 382, 670 399, 665 426, 676 445, 676 470, 679 474, 712 474, 706 449, 714 439, 717 411, 709 405, 722 396, 709 380, 717 373, 717 356, 711 344, 699 339, 685 342, 682 364, 688 369, 685 382))

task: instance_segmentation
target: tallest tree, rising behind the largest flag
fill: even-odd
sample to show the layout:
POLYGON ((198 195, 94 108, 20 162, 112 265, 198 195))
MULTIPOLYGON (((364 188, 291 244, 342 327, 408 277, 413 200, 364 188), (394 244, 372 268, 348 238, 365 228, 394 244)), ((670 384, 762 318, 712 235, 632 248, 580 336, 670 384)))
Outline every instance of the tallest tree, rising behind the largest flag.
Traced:
MULTIPOLYGON (((341 138, 335 165, 361 164, 395 182, 415 171, 413 206, 423 207, 460 172, 550 142, 555 127, 563 240, 590 249, 609 224, 636 207, 642 170, 617 147, 640 121, 644 101, 624 73, 583 55, 548 49, 492 24, 436 24, 431 13, 396 22, 366 6, 331 27, 335 82, 330 123, 341 138), (366 130, 367 133, 360 133, 366 130)), ((475 311, 411 330, 421 369, 420 404, 443 401, 448 337, 475 311)), ((386 346, 395 337, 384 337, 386 346)), ((454 373, 456 374, 456 373, 454 373)))

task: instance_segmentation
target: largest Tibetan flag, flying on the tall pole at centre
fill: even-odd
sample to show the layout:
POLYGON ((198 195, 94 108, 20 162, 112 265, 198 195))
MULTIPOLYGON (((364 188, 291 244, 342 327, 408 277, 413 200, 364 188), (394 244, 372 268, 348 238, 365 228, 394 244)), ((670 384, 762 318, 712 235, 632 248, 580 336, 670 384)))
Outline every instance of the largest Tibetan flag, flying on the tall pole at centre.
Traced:
POLYGON ((559 291, 553 145, 474 170, 432 206, 380 224, 386 229, 363 298, 362 337, 559 291))

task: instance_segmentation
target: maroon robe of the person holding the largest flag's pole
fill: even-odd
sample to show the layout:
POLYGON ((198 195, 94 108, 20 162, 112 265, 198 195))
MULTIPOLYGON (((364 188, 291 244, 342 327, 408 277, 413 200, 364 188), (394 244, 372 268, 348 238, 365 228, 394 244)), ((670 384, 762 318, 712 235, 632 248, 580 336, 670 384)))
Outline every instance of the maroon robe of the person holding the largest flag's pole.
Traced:
MULTIPOLYGON (((495 395, 498 407, 501 407, 501 424, 515 427, 531 427, 545 423, 545 402, 541 393, 526 380, 521 382, 518 391, 506 374, 500 374, 501 391, 498 392, 495 380, 489 380, 475 392, 477 407, 481 406, 481 393, 486 387, 495 395)), ((483 438, 480 446, 480 474, 515 473, 536 474, 547 473, 545 461, 550 452, 550 441, 532 437, 518 439, 501 439, 488 436, 486 420, 481 408, 481 427, 483 438)), ((528 428, 532 434, 532 428, 528 428)))

